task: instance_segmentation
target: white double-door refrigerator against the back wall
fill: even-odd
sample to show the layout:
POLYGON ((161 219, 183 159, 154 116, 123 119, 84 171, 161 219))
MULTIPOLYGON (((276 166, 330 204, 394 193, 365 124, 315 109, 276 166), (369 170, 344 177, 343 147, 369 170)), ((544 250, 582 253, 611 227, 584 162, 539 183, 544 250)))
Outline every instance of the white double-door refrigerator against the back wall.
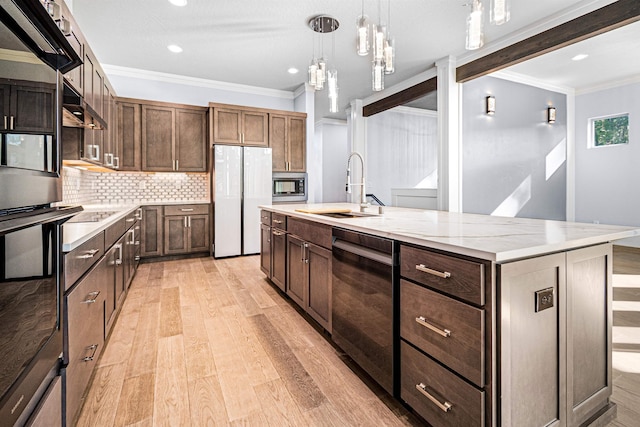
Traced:
POLYGON ((215 258, 260 253, 260 205, 271 204, 271 148, 215 145, 215 258))

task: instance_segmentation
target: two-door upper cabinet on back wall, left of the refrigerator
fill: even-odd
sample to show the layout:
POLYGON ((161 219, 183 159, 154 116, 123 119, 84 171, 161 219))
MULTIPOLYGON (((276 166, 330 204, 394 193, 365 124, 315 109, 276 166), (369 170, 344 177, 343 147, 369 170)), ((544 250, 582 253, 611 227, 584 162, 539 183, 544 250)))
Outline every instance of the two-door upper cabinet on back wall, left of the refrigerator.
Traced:
POLYGON ((206 172, 206 111, 142 104, 142 170, 206 172))

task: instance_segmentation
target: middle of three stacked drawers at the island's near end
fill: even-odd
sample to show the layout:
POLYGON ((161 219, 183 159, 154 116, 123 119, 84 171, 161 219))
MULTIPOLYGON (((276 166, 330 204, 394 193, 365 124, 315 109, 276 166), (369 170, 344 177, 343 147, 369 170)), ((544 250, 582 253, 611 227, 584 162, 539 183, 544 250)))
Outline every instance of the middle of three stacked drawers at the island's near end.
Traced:
POLYGON ((400 335, 483 387, 484 310, 400 281, 400 335))

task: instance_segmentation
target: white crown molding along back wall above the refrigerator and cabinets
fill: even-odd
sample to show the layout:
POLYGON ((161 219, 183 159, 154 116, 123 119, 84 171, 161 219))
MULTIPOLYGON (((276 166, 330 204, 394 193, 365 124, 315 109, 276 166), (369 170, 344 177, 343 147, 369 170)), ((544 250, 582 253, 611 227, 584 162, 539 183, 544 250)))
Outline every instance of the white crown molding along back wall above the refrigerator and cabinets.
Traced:
POLYGON ((268 89, 258 86, 226 83, 217 80, 202 79, 199 77, 181 76, 178 74, 161 73, 158 71, 141 70, 138 68, 121 67, 119 65, 101 64, 108 76, 129 77, 134 79, 149 80, 164 83, 173 83, 186 86, 196 86, 209 89, 218 89, 229 92, 248 93, 252 95, 270 96, 273 98, 294 99, 294 92, 285 90, 268 89))

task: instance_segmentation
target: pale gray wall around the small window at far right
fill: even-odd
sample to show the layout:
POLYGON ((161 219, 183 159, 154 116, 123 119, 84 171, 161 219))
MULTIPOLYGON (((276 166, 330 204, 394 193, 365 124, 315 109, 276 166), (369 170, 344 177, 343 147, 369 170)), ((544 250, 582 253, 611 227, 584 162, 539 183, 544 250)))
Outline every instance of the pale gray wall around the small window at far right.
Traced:
POLYGON ((576 96, 576 220, 640 226, 640 83, 576 96), (589 148, 589 119, 629 113, 629 144, 589 148))

